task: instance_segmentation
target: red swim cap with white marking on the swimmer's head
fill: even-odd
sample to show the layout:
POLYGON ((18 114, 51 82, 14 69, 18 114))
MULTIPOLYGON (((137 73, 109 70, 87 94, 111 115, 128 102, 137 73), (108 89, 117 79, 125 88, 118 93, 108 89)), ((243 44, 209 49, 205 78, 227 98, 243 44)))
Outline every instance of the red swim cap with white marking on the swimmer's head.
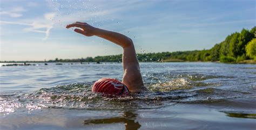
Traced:
POLYGON ((128 95, 130 93, 127 86, 113 78, 100 78, 93 84, 92 92, 103 92, 110 95, 128 95))

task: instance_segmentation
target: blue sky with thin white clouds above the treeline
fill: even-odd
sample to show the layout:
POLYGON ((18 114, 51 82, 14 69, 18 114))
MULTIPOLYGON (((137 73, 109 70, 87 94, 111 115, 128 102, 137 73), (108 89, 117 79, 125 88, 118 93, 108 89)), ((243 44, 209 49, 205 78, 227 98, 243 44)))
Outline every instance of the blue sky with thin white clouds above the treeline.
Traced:
POLYGON ((0 61, 122 53, 109 41, 65 28, 76 21, 127 35, 137 53, 210 49, 256 26, 255 8, 255 0, 1 0, 0 61))

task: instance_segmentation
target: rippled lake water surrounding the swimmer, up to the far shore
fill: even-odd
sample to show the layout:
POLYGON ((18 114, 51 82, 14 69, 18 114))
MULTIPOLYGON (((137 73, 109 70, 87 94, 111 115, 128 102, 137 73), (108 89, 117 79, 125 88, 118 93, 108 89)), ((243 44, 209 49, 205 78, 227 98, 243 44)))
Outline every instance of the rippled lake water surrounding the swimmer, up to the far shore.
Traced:
POLYGON ((5 66, 0 129, 255 129, 256 65, 140 63, 152 92, 106 97, 120 63, 5 66))

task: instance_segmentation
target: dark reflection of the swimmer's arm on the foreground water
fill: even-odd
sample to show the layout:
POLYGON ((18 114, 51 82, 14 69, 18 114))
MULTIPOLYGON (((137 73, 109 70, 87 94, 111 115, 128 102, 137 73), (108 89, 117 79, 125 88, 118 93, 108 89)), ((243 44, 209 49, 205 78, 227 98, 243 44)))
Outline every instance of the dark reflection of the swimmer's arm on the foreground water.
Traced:
POLYGON ((84 120, 84 125, 113 124, 124 123, 126 130, 136 130, 140 128, 140 124, 136 121, 137 114, 133 111, 124 112, 122 117, 112 117, 104 119, 84 120))

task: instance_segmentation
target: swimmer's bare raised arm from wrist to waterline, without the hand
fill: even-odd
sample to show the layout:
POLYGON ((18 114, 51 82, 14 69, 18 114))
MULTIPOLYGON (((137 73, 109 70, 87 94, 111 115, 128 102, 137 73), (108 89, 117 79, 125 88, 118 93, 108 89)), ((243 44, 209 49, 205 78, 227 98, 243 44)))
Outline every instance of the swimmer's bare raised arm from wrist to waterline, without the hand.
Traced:
POLYGON ((133 93, 145 91, 146 89, 143 84, 142 75, 140 74, 139 62, 132 40, 123 34, 98 28, 96 29, 95 35, 123 47, 123 83, 133 93))

